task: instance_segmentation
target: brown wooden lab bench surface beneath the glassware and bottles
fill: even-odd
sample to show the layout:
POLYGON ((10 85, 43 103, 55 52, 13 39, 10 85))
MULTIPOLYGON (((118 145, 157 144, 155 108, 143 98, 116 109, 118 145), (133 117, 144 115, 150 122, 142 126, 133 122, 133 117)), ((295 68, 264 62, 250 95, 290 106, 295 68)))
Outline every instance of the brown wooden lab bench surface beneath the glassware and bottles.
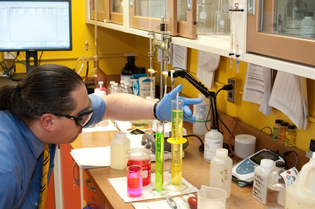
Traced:
MULTIPOLYGON (((187 130, 187 134, 192 134, 192 124, 184 122, 184 127, 187 130)), ((117 131, 106 132, 88 132, 82 133, 79 138, 68 144, 70 149, 79 149, 85 147, 104 147, 108 146, 110 140, 114 137, 114 133, 117 131)), ((202 137, 203 138, 203 137, 202 137)), ((209 185, 209 169, 210 164, 203 160, 203 153, 199 152, 198 147, 201 144, 198 138, 188 137, 189 146, 184 150, 185 156, 183 158, 183 178, 191 183, 196 188, 200 189, 201 185, 209 185)), ((140 143, 140 142, 139 142, 140 143)), ((236 161, 233 160, 233 164, 236 161)), ((152 162, 151 172, 155 172, 155 162, 152 162)), ((96 189, 92 192, 95 202, 97 202, 102 208, 134 208, 132 204, 125 203, 117 194, 115 189, 109 184, 108 178, 125 177, 127 172, 125 170, 115 170, 111 167, 100 167, 84 169, 85 178, 90 179, 90 187, 96 189), (106 205, 105 205, 106 204, 106 205)), ((86 179, 83 178, 84 187, 86 187, 86 179)), ((197 196, 197 192, 193 193, 197 196)), ((84 203, 88 202, 89 197, 83 195, 84 203)), ((165 199, 165 198, 164 198, 165 199)), ((152 199, 140 202, 151 202, 162 199, 152 199)), ((94 200, 93 200, 94 201, 94 200)), ((265 205, 262 205, 252 197, 252 186, 247 185, 240 188, 236 183, 232 182, 231 196, 226 199, 227 209, 264 209, 265 205)))

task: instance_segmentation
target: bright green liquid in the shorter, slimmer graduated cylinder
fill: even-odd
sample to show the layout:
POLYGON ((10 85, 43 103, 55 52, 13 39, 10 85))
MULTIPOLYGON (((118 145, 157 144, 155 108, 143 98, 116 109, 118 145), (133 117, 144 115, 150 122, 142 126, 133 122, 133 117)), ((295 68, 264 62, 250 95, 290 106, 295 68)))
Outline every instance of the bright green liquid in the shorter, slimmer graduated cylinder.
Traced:
POLYGON ((163 191, 164 133, 155 134, 155 188, 163 191))

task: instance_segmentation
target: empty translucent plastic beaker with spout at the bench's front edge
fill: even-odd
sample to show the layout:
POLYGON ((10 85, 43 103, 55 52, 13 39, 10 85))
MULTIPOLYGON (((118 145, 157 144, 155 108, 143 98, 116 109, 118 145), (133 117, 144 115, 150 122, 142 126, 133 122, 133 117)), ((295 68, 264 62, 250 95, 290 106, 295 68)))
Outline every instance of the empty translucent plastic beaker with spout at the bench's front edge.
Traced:
POLYGON ((211 209, 225 209, 226 191, 223 189, 201 185, 197 195, 197 209, 206 209, 209 206, 211 209))

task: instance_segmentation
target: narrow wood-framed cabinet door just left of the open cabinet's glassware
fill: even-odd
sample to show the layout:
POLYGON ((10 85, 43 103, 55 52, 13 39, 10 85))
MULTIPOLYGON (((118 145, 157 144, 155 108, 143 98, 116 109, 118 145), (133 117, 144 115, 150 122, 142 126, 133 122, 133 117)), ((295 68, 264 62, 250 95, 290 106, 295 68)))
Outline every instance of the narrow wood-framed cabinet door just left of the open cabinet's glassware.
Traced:
POLYGON ((196 38, 197 0, 177 1, 178 35, 186 38, 196 38))

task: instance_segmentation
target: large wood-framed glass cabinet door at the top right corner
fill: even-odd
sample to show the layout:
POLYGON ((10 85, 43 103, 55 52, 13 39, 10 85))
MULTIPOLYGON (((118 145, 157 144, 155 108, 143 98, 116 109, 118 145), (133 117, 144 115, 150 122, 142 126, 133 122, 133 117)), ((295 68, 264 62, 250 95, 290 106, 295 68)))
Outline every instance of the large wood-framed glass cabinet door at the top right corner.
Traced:
POLYGON ((314 10, 315 0, 256 0, 247 51, 315 65, 314 10))

